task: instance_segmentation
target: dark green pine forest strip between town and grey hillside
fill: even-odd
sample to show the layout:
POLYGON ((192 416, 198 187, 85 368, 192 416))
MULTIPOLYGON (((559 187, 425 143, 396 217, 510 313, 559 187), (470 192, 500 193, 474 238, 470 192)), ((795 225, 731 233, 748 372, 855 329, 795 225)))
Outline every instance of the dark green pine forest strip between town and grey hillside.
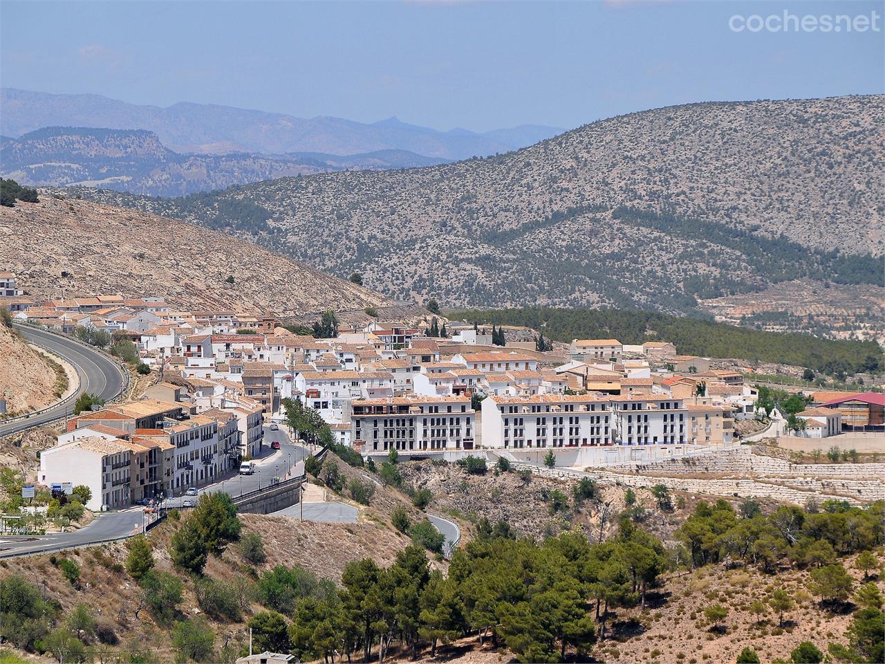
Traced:
POLYGON ((616 338, 622 344, 669 341, 681 355, 776 362, 843 376, 885 369, 881 346, 872 341, 822 339, 801 333, 766 332, 666 313, 617 309, 471 309, 446 313, 452 320, 526 326, 555 341, 616 338))

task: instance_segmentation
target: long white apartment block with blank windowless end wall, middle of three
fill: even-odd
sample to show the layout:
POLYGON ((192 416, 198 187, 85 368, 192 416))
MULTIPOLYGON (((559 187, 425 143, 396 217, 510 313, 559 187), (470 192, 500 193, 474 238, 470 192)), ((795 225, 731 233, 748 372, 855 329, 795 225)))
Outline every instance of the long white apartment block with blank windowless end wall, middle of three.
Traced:
POLYGON ((606 398, 543 394, 482 400, 483 447, 579 447, 611 444, 606 398))

